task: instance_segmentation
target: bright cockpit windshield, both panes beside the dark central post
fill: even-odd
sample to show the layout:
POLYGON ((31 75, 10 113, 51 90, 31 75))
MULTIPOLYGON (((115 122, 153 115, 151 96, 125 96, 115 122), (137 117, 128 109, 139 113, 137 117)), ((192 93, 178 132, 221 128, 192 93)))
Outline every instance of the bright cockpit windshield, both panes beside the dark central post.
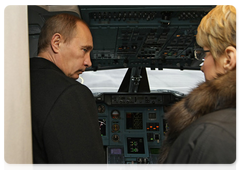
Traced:
MULTIPOLYGON (((151 92, 173 90, 188 94, 192 88, 204 81, 200 70, 146 69, 151 92)), ((93 93, 117 92, 127 69, 86 71, 79 82, 88 86, 93 93)))

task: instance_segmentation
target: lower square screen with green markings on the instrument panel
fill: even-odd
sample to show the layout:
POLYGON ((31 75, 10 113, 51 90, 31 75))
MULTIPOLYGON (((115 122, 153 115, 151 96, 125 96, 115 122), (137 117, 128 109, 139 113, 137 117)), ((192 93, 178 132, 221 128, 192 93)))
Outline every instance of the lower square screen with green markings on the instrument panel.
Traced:
POLYGON ((143 138, 128 137, 127 138, 128 154, 144 154, 144 140, 143 138))

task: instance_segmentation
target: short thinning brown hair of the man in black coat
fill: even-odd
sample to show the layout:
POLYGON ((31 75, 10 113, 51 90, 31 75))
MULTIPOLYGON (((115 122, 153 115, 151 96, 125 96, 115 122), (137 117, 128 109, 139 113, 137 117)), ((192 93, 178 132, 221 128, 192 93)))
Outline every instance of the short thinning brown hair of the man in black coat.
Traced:
POLYGON ((52 36, 59 33, 63 36, 64 42, 69 42, 76 34, 76 23, 82 22, 87 25, 79 17, 71 14, 58 14, 45 22, 41 29, 38 40, 38 53, 46 50, 50 46, 52 36))

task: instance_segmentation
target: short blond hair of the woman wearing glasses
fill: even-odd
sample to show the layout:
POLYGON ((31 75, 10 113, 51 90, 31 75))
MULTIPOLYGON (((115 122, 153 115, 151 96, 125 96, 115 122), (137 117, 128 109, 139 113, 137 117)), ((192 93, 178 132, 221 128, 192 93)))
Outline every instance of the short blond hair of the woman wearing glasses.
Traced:
POLYGON ((228 46, 240 50, 240 1, 222 0, 198 26, 197 43, 216 59, 228 46))

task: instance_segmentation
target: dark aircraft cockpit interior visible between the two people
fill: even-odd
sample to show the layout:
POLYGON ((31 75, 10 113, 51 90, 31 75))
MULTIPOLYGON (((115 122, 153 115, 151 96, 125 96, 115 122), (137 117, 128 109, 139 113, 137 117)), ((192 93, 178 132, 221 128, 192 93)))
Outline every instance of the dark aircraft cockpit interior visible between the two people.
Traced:
MULTIPOLYGON (((84 73, 87 81, 84 74, 78 81, 89 82, 92 88, 108 170, 157 169, 159 149, 168 130, 164 113, 187 92, 168 89, 172 85, 168 83, 163 89, 152 89, 149 74, 174 70, 154 81, 155 86, 164 79, 176 79, 174 74, 184 71, 196 82, 203 80, 203 75, 199 76, 202 61, 194 55, 195 36, 202 17, 218 2, 28 0, 30 57, 37 56, 38 37, 45 20, 55 14, 76 15, 91 30, 92 66, 84 73), (106 84, 111 81, 101 78, 106 88, 96 90, 99 84, 91 75, 109 77, 107 71, 114 72, 118 79, 111 81, 118 87, 108 89, 106 84)), ((173 86, 181 81, 186 80, 180 77, 173 86)))

